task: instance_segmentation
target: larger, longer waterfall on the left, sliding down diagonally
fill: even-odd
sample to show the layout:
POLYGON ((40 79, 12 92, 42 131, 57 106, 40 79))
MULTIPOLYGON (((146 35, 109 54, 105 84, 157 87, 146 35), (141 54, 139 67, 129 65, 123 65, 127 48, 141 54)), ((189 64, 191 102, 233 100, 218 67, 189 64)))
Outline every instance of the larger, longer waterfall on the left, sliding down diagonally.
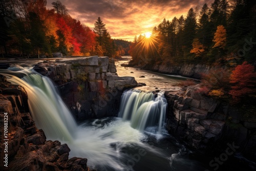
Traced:
POLYGON ((48 77, 32 68, 22 67, 2 70, 1 73, 11 83, 25 88, 33 120, 38 129, 44 130, 47 139, 73 140, 77 124, 48 77))

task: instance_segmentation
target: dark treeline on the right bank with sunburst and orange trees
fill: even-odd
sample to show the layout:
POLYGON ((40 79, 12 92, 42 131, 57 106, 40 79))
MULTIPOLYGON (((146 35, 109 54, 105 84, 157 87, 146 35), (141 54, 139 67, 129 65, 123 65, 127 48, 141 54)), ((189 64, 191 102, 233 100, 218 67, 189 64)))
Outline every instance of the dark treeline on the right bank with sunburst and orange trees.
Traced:
POLYGON ((215 0, 191 8, 186 18, 174 17, 135 37, 130 55, 140 63, 206 63, 236 66, 256 61, 256 1, 215 0))

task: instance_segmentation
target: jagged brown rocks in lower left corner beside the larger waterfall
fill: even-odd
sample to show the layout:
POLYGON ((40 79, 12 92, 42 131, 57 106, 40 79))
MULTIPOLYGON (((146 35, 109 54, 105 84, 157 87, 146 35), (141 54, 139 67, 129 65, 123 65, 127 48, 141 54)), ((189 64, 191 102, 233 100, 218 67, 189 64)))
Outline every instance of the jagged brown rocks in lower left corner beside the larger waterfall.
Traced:
POLYGON ((0 157, 3 161, 8 154, 8 159, 1 162, 1 170, 90 170, 87 159, 69 159, 67 144, 46 140, 44 131, 38 130, 31 118, 25 89, 10 84, 0 75, 0 125, 6 119, 8 136, 5 137, 1 126, 0 157))

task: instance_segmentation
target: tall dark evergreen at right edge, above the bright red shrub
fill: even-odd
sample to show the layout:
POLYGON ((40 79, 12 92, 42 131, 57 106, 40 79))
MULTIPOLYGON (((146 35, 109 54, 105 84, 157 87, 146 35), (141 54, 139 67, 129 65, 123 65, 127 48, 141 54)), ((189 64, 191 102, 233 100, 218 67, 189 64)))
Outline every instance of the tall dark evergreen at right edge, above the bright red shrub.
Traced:
POLYGON ((256 46, 252 42, 256 40, 256 1, 233 0, 231 9, 227 26, 228 52, 236 62, 255 61, 256 46), (246 51, 244 45, 249 47, 246 51))

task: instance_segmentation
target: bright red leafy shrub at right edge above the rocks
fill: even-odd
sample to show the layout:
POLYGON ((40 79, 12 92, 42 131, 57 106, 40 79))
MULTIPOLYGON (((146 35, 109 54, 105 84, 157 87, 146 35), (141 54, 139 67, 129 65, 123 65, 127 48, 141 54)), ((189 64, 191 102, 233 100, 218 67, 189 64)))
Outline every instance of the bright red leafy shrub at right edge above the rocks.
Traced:
POLYGON ((231 87, 229 94, 235 102, 241 100, 243 96, 254 96, 256 93, 256 72, 254 67, 243 62, 242 65, 237 66, 230 75, 230 83, 234 86, 231 87))

